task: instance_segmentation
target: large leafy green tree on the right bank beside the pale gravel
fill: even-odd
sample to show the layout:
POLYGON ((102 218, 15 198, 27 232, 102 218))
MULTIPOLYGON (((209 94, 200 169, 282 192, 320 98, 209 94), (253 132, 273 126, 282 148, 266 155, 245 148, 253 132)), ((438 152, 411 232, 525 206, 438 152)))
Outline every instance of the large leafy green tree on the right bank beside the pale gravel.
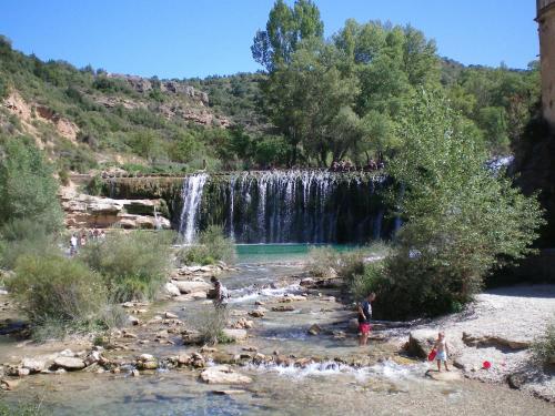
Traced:
POLYGON ((404 115, 390 173, 404 186, 405 223, 381 296, 395 317, 468 302, 494 267, 532 252, 543 223, 536 199, 486 168, 486 152, 441 94, 421 92, 404 115))

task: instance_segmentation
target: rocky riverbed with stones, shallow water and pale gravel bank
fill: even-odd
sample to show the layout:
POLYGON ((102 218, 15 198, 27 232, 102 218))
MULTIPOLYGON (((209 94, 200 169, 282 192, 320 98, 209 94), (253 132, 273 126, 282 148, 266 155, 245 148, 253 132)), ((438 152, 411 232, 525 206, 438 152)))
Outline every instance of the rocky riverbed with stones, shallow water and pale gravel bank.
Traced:
MULTIPOLYGON (((20 400, 40 392, 57 414, 335 414, 337 403, 344 414, 553 414, 553 404, 525 394, 553 400, 548 373, 523 377, 525 393, 506 386, 514 372, 534 371, 527 345, 555 311, 553 287, 483 294, 465 313, 412 326, 376 323, 370 346, 360 348, 353 307, 336 283, 302 276, 296 264, 181 268, 163 300, 124 304, 129 326, 104 338, 36 344, 2 336, 3 396, 20 400), (206 298, 213 274, 232 295, 225 334, 234 341, 215 347, 196 343, 194 322, 213 307, 206 298), (438 328, 458 367, 448 375, 418 357, 438 328), (481 369, 484 359, 493 363, 490 371, 481 369)), ((2 318, 13 315, 6 308, 2 318)))

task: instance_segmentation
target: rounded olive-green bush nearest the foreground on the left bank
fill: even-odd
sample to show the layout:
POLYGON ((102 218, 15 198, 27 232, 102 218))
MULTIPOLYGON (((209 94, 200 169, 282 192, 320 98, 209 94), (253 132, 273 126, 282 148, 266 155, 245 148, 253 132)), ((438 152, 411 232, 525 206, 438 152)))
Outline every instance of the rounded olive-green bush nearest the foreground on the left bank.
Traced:
POLYGON ((107 304, 102 277, 83 263, 60 256, 21 256, 8 290, 36 327, 79 331, 98 325, 107 304))

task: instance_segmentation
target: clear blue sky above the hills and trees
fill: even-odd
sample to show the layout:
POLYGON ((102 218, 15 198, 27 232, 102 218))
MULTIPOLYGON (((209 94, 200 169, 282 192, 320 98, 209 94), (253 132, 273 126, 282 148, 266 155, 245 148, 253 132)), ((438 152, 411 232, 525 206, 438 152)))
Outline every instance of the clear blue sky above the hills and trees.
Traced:
MULTIPOLYGON (((289 1, 290 3, 292 1, 289 1)), ((466 64, 526 68, 538 53, 534 0, 316 0, 325 34, 349 18, 390 20, 466 64)), ((250 47, 273 0, 2 0, 0 33, 41 59, 189 78, 255 71, 250 47)))

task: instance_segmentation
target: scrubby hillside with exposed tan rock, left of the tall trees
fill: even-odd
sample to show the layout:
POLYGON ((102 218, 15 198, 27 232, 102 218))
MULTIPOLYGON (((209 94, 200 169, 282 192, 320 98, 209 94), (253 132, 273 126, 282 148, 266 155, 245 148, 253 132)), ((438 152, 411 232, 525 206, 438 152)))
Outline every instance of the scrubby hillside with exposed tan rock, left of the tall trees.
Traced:
POLYGON ((43 62, 0 38, 0 136, 28 135, 60 172, 109 164, 195 169, 230 118, 185 81, 43 62))

